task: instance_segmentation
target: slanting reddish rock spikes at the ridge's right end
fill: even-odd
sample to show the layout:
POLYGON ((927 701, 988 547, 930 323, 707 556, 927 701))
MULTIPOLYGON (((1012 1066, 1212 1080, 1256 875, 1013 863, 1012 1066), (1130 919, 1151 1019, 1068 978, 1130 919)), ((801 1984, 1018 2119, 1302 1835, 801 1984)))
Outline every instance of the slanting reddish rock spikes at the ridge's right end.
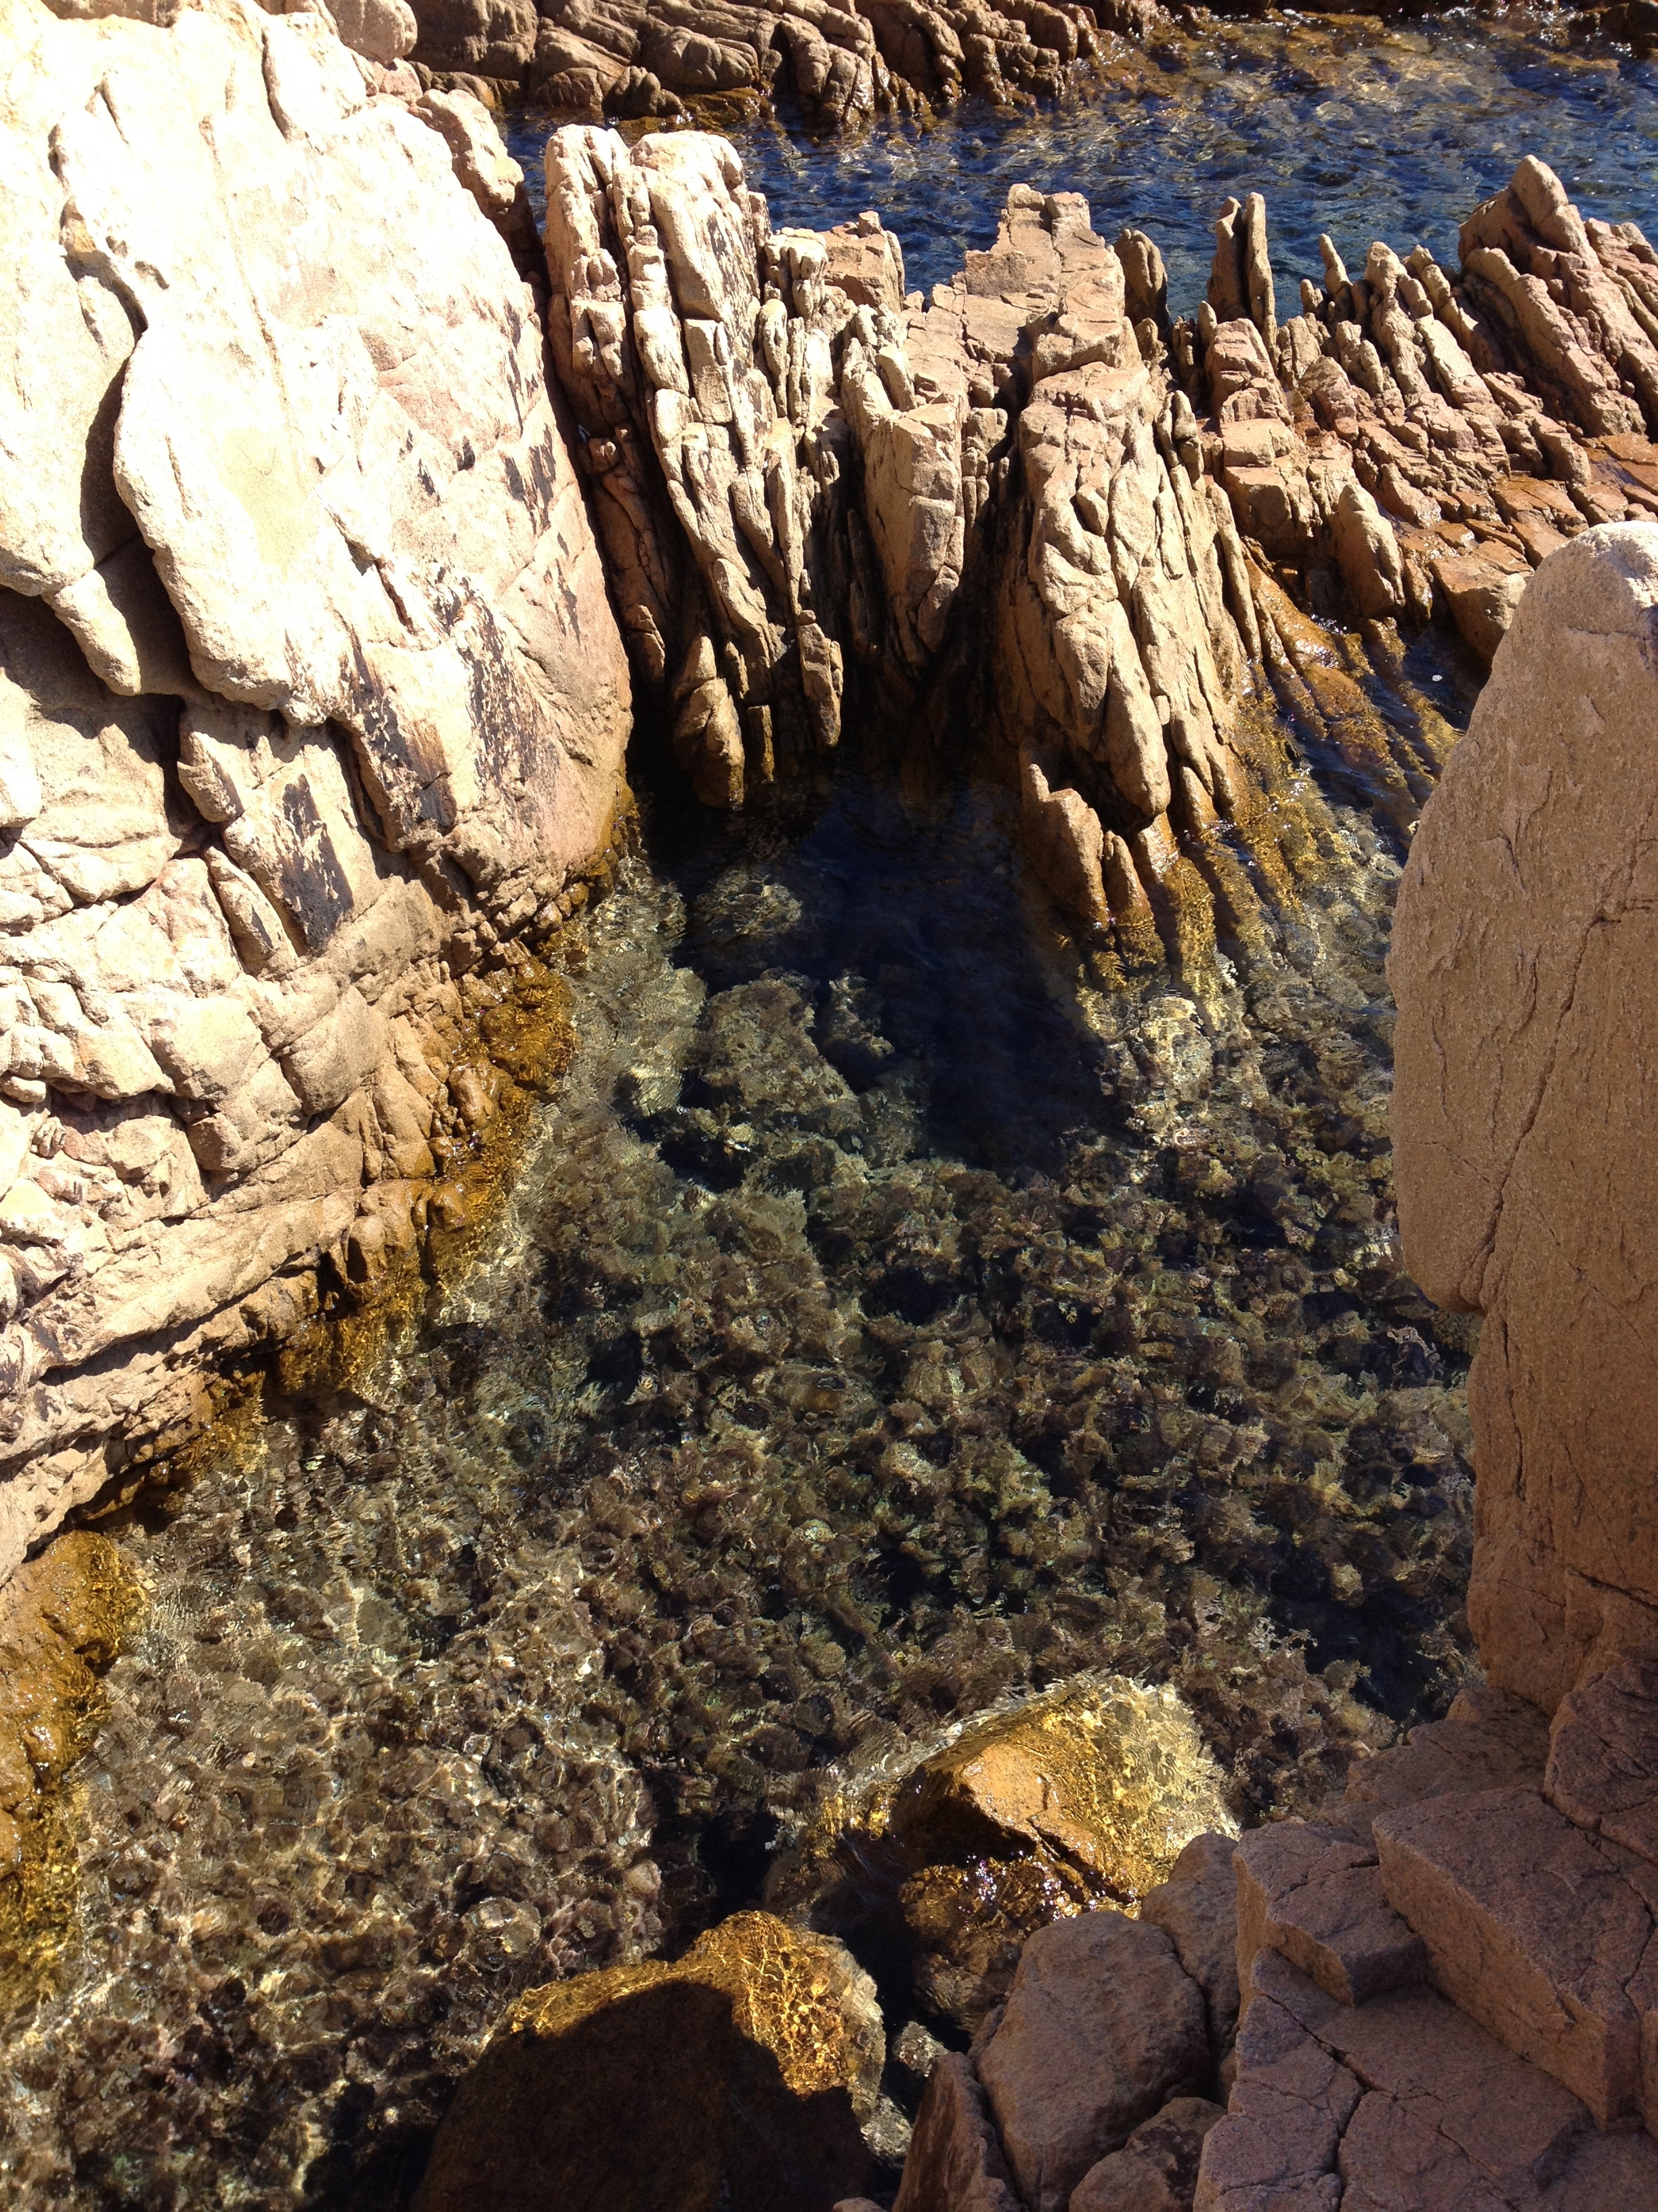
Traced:
POLYGON ((1278 323, 1265 206, 1229 201, 1207 305, 1172 336, 1238 529, 1340 575, 1360 615, 1444 608, 1490 659, 1565 538, 1658 513, 1658 254, 1530 157, 1463 223, 1455 279, 1421 246, 1377 241, 1362 276, 1320 246, 1324 283, 1278 323))

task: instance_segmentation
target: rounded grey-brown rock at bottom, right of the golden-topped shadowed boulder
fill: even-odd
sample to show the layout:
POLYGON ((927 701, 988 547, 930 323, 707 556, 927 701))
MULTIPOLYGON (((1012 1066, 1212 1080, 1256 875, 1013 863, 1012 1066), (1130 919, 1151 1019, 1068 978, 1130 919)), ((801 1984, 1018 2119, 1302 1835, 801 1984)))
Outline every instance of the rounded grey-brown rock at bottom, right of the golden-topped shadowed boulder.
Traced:
POLYGON ((979 2077, 1028 2212, 1063 2212, 1090 2166, 1207 2084, 1203 1993, 1163 1929, 1059 1920, 1026 1944, 979 2077))

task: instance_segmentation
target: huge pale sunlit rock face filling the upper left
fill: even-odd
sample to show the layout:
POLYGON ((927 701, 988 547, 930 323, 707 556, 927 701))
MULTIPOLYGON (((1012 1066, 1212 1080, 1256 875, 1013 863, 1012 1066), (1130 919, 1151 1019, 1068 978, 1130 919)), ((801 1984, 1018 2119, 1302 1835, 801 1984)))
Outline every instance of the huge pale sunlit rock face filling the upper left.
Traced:
POLYGON ((9 40, 0 1573, 411 1243, 628 719, 486 119, 243 0, 9 40))

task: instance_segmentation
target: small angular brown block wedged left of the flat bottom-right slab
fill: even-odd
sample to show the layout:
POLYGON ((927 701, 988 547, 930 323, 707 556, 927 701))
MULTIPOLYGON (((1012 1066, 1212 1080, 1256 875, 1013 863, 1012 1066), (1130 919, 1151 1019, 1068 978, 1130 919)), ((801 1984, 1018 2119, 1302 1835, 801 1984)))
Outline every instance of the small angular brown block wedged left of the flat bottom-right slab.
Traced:
POLYGON ((1364 2004, 1426 1973, 1415 1929, 1388 1905, 1377 1854, 1335 1829, 1276 1820, 1238 1843, 1238 1978, 1260 1949, 1282 1951, 1342 2004, 1364 2004))

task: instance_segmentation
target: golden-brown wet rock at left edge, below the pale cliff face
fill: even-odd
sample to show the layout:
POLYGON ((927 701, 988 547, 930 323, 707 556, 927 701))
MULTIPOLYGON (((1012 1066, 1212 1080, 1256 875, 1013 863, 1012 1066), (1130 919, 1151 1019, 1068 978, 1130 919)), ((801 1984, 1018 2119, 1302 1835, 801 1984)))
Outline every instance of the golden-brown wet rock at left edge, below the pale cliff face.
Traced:
POLYGON ((144 1608, 117 1546, 80 1528, 0 1593, 0 2011, 35 1995, 73 1936, 75 1843, 57 1792, 104 1719, 97 1677, 144 1608))

